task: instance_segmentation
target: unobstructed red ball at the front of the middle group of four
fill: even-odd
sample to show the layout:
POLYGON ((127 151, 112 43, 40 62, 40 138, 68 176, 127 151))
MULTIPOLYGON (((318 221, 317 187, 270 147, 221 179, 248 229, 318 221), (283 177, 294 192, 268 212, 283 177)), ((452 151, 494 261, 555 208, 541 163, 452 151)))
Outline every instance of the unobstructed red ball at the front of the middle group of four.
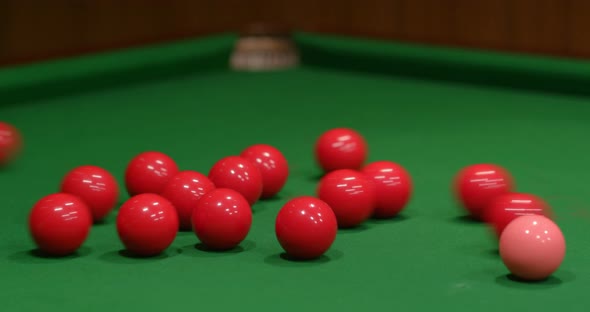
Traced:
POLYGON ((334 243, 337 232, 338 221, 330 206, 311 196, 289 200, 275 221, 279 244, 293 259, 322 256, 334 243))

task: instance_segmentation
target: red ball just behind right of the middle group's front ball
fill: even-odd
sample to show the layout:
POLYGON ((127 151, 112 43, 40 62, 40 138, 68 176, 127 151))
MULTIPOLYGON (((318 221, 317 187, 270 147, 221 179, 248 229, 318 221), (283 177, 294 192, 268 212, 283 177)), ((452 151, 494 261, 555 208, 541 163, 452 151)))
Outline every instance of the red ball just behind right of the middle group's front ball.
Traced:
POLYGON ((358 226, 371 217, 377 199, 373 181, 350 169, 326 174, 317 193, 332 208, 341 228, 358 226))

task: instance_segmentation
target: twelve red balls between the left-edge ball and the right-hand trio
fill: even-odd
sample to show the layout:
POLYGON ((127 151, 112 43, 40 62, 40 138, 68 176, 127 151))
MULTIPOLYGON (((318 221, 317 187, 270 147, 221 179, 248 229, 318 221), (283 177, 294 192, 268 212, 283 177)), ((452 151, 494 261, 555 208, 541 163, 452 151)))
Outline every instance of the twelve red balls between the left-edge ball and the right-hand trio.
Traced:
MULTIPOLYGON (((323 255, 338 228, 358 226, 370 217, 396 216, 412 188, 409 174, 396 163, 365 165, 367 143, 354 130, 323 133, 315 152, 325 173, 317 195, 291 198, 275 220, 277 240, 294 259, 323 255)), ((288 176, 283 153, 266 144, 219 159, 207 175, 179 170, 164 153, 143 152, 125 170, 130 197, 118 209, 117 233, 126 250, 137 256, 160 254, 179 230, 193 231, 206 248, 232 249, 250 231, 252 206, 277 195, 288 176)), ((47 254, 71 254, 87 239, 92 224, 116 208, 119 195, 117 180, 106 169, 73 168, 62 178, 59 192, 33 206, 31 236, 47 254)))

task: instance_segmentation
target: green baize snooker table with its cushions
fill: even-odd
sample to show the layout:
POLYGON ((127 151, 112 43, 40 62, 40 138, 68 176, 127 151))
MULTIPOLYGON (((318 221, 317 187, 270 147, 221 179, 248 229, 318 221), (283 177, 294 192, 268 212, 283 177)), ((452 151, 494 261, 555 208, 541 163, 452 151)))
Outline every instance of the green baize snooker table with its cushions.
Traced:
POLYGON ((86 55, 0 71, 0 119, 23 134, 0 171, 3 311, 581 311, 590 304, 590 63, 296 33, 302 64, 228 68, 235 34, 86 55), (340 230, 320 259, 289 261, 274 220, 290 198, 314 195, 317 137, 352 127, 369 161, 403 165, 414 191, 396 218, 340 230), (246 240, 196 248, 191 232, 153 258, 122 252, 115 219, 93 226, 72 256, 35 251, 27 217, 71 168, 123 173, 145 150, 207 173, 253 143, 283 151, 290 177, 256 203, 246 240), (510 277, 491 230, 451 192, 464 166, 506 167, 517 189, 552 206, 567 242, 559 270, 510 277), (586 285, 586 286, 584 286, 586 285))

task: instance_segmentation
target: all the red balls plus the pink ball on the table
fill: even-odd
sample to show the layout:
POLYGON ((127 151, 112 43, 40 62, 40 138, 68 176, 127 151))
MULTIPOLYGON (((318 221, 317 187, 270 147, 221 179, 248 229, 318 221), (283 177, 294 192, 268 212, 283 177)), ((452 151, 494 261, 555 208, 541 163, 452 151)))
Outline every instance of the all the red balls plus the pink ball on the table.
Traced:
MULTIPOLYGON (((0 122, 0 166, 22 149, 18 130, 0 122)), ((412 195, 412 180, 399 164, 366 163, 368 145, 356 131, 331 129, 320 135, 315 159, 323 171, 314 196, 288 200, 275 220, 275 234, 285 252, 314 259, 333 244, 339 228, 369 218, 393 218, 412 195)), ((218 160, 208 175, 180 171, 175 161, 148 151, 134 157, 125 171, 130 198, 117 214, 117 232, 127 250, 140 256, 161 253, 178 230, 192 230, 207 248, 239 245, 252 225, 252 205, 271 198, 287 182, 289 166, 277 148, 257 144, 239 155, 218 160)), ((463 168, 454 192, 474 220, 491 226, 500 256, 512 274, 527 280, 551 275, 565 256, 565 239, 549 205, 517 192, 514 178, 494 164, 463 168)), ((67 255, 86 240, 93 223, 116 206, 119 186, 107 170, 92 165, 66 173, 60 191, 40 199, 29 216, 37 246, 51 255, 67 255)))

